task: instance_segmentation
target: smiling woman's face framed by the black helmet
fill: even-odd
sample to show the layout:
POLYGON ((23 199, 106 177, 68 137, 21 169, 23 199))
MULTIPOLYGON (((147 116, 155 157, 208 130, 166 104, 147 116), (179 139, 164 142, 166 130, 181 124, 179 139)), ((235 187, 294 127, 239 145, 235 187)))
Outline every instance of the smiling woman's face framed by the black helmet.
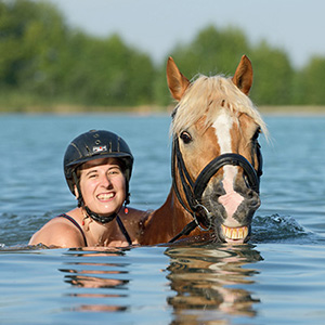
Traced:
POLYGON ((95 213, 118 212, 126 199, 126 178, 116 158, 99 158, 80 169, 80 191, 84 205, 95 213))

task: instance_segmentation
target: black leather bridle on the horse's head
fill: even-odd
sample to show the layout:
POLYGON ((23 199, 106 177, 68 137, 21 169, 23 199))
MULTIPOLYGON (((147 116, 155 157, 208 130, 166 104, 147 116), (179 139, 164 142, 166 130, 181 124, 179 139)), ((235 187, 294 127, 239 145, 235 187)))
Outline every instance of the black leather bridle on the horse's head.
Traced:
POLYGON ((179 138, 178 135, 173 136, 172 140, 172 157, 171 157, 171 177, 172 177, 172 186, 177 195, 178 200, 182 207, 193 217, 193 221, 187 223, 185 227, 169 243, 173 243, 179 239, 181 236, 188 235, 196 226, 202 231, 209 231, 212 225, 212 214, 211 212, 203 205, 202 196, 206 190, 210 179, 218 172, 220 168, 225 165, 239 166, 244 170, 244 176, 247 179, 249 187, 259 194, 260 191, 260 177, 262 176, 262 155, 260 151, 260 145, 256 141, 256 154, 258 159, 258 169, 256 170, 251 164, 239 154, 223 154, 212 159, 198 174, 195 181, 192 180, 184 159, 180 151, 179 138), (180 190, 177 184, 177 169, 181 180, 181 185, 185 194, 185 202, 180 194, 180 190), (203 226, 200 225, 203 224, 203 226))

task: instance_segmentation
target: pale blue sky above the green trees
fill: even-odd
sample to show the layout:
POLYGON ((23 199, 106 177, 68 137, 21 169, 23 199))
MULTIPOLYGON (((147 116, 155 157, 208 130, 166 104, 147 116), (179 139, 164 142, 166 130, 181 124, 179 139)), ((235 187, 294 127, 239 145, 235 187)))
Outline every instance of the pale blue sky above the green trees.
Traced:
POLYGON ((96 36, 118 32, 162 60, 206 26, 235 26, 251 43, 264 39, 285 50, 295 66, 325 56, 324 0, 47 0, 75 27, 96 36))

